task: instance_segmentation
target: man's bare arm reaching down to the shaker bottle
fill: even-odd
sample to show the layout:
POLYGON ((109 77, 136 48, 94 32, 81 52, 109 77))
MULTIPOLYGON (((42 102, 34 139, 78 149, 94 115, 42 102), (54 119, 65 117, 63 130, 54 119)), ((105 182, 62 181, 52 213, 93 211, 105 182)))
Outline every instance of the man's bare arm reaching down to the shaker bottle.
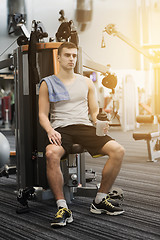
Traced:
POLYGON ((98 101, 96 97, 96 90, 94 83, 92 82, 91 79, 87 78, 87 84, 88 84, 88 108, 89 108, 89 113, 92 117, 93 123, 96 123, 97 120, 97 114, 99 112, 99 107, 98 107, 98 101))

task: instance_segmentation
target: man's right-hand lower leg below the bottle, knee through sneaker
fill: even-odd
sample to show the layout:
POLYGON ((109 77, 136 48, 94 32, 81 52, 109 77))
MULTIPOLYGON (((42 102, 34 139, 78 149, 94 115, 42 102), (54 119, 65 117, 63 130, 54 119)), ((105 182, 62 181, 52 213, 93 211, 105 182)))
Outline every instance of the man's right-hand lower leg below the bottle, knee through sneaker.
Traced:
POLYGON ((100 153, 108 155, 109 159, 102 170, 101 185, 90 210, 96 214, 106 213, 109 215, 119 215, 124 212, 123 209, 119 207, 117 203, 108 199, 107 193, 120 171, 124 148, 119 143, 111 140, 102 147, 100 153))

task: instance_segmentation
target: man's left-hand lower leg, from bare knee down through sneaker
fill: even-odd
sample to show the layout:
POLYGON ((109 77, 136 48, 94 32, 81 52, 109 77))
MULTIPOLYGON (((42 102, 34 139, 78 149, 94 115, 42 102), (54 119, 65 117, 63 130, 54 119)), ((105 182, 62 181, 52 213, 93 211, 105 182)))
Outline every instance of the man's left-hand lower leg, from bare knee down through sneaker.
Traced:
POLYGON ((58 212, 51 226, 65 226, 73 221, 72 212, 68 209, 63 193, 63 174, 60 168, 60 160, 65 150, 62 146, 49 144, 46 147, 47 178, 50 188, 57 200, 58 212))

